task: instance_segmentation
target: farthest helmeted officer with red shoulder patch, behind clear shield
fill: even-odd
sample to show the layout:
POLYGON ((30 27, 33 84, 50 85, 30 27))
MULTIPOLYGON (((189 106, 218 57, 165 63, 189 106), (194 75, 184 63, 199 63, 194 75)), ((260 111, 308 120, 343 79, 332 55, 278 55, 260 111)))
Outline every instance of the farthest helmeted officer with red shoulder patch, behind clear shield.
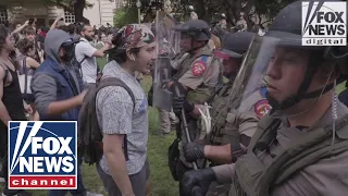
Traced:
MULTIPOLYGON (((194 20, 177 25, 175 30, 181 32, 181 50, 185 54, 173 64, 173 68, 176 69, 176 74, 167 83, 167 87, 174 93, 177 87, 182 89, 182 95, 185 96, 185 99, 196 105, 203 105, 215 91, 215 87, 222 83, 220 63, 213 60, 212 50, 208 47, 208 41, 211 38, 209 25, 204 21, 194 20)), ((182 97, 174 97, 175 99, 182 99, 182 97)), ((176 115, 183 122, 181 112, 176 111, 176 115)), ((190 138, 195 139, 198 135, 196 132, 197 119, 190 115, 187 115, 186 119, 190 138)), ((171 146, 169 157, 173 177, 181 181, 183 174, 191 170, 192 166, 190 162, 185 161, 182 151, 182 143, 187 143, 184 127, 181 126, 177 131, 177 139, 171 146), (178 143, 179 140, 182 143, 178 143), (179 154, 175 155, 174 149, 179 149, 179 154)), ((199 160, 197 163, 202 167, 203 160, 199 160)))

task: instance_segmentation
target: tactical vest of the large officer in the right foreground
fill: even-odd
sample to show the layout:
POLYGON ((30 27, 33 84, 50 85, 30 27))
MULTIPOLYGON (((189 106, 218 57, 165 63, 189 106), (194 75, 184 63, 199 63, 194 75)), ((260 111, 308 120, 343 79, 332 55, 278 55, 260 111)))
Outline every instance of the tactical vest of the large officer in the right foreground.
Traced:
POLYGON ((336 139, 332 146, 332 124, 310 128, 288 149, 274 157, 265 166, 256 151, 261 146, 271 145, 276 137, 281 121, 263 118, 253 135, 248 152, 238 158, 231 196, 269 196, 270 191, 284 183, 295 172, 321 159, 330 158, 348 150, 348 114, 336 121, 336 139))

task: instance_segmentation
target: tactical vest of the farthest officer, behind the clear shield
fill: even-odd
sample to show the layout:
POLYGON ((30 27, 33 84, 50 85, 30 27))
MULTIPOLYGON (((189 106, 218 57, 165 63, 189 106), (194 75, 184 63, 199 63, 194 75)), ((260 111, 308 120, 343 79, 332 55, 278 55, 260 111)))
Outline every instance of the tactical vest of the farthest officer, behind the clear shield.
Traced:
MULTIPOLYGON (((191 69, 192 63, 200 57, 208 59, 209 57, 212 56, 211 50, 208 49, 208 47, 202 48, 198 53, 194 56, 187 56, 183 61, 181 69, 178 72, 173 76, 174 79, 178 81, 181 77, 184 76, 186 72, 188 72, 191 69)), ((212 62, 207 63, 207 70, 209 69, 210 65, 212 65, 212 62)), ((207 72, 206 72, 207 73, 207 72)), ((195 90, 190 90, 187 94, 187 100, 195 103, 195 105, 202 105, 204 103, 209 97, 213 94, 214 87, 208 87, 203 83, 195 90)))

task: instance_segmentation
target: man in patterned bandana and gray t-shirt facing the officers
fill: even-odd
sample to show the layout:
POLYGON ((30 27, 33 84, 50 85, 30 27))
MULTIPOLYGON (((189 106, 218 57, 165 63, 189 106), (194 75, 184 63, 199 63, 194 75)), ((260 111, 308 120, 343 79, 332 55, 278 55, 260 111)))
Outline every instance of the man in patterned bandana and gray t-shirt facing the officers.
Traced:
POLYGON ((108 86, 97 94, 96 112, 103 134, 103 157, 97 171, 109 195, 145 196, 149 179, 148 101, 135 72, 150 72, 157 44, 151 30, 139 24, 123 27, 113 44, 116 46, 112 50, 117 52, 111 51, 110 57, 120 64, 115 60, 109 62, 101 82, 108 77, 120 78, 129 87, 135 100, 121 86, 108 86), (128 160, 124 156, 124 138, 128 160))

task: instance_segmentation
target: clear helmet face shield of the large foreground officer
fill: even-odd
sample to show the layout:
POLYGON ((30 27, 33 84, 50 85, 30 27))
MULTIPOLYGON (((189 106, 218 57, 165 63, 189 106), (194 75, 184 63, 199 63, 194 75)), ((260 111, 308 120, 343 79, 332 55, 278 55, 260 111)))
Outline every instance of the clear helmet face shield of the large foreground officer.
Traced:
POLYGON ((261 94, 261 89, 264 89, 274 109, 286 112, 291 110, 289 108, 294 109, 300 100, 315 101, 315 98, 324 93, 324 88, 331 83, 335 63, 322 65, 323 48, 301 47, 294 42, 288 37, 282 39, 257 36, 253 39, 234 84, 236 100, 239 100, 240 105, 238 110, 248 110, 240 101, 251 99, 254 94, 261 94), (314 76, 318 69, 323 73, 321 78, 314 76))

